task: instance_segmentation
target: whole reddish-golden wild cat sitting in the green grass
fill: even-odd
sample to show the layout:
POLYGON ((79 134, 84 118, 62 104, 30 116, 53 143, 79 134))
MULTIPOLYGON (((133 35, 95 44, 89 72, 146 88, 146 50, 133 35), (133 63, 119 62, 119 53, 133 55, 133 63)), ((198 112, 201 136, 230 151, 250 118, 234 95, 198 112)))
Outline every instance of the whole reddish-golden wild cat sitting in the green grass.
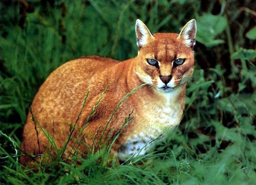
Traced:
MULTIPOLYGON (((180 34, 152 34, 138 19, 135 32, 139 47, 135 58, 120 62, 99 56, 81 57, 50 74, 34 97, 31 105, 33 116, 31 113, 27 115, 21 145, 25 153, 54 153, 49 149, 51 145, 42 128, 53 136, 56 147, 60 149, 68 140, 71 125, 76 124, 62 158, 66 159, 75 150, 85 157, 88 148, 94 147, 95 143, 113 140, 120 133, 125 118, 133 111, 133 119, 122 128, 111 149, 113 156, 124 161, 141 148, 136 155, 147 153, 153 145, 143 147, 145 144, 163 130, 180 123, 186 83, 194 68, 195 19, 190 20, 180 34), (118 102, 141 84, 146 85, 128 96, 106 128, 118 102), (106 86, 108 88, 95 114, 88 119, 106 86)), ((20 158, 23 164, 31 160, 29 156, 20 158)), ((34 160, 38 161, 39 157, 34 160)))

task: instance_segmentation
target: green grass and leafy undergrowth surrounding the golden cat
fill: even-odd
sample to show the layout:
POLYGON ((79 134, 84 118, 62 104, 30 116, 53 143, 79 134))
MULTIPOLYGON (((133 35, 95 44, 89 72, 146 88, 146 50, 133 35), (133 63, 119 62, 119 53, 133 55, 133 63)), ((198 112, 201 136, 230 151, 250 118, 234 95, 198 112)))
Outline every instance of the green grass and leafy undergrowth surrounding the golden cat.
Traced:
POLYGON ((255 10, 255 0, 0 0, 0 184, 255 184, 255 10), (180 32, 193 18, 185 114, 154 153, 112 167, 98 163, 106 153, 37 173, 19 164, 28 108, 54 69, 86 55, 135 57, 136 19, 180 32))

